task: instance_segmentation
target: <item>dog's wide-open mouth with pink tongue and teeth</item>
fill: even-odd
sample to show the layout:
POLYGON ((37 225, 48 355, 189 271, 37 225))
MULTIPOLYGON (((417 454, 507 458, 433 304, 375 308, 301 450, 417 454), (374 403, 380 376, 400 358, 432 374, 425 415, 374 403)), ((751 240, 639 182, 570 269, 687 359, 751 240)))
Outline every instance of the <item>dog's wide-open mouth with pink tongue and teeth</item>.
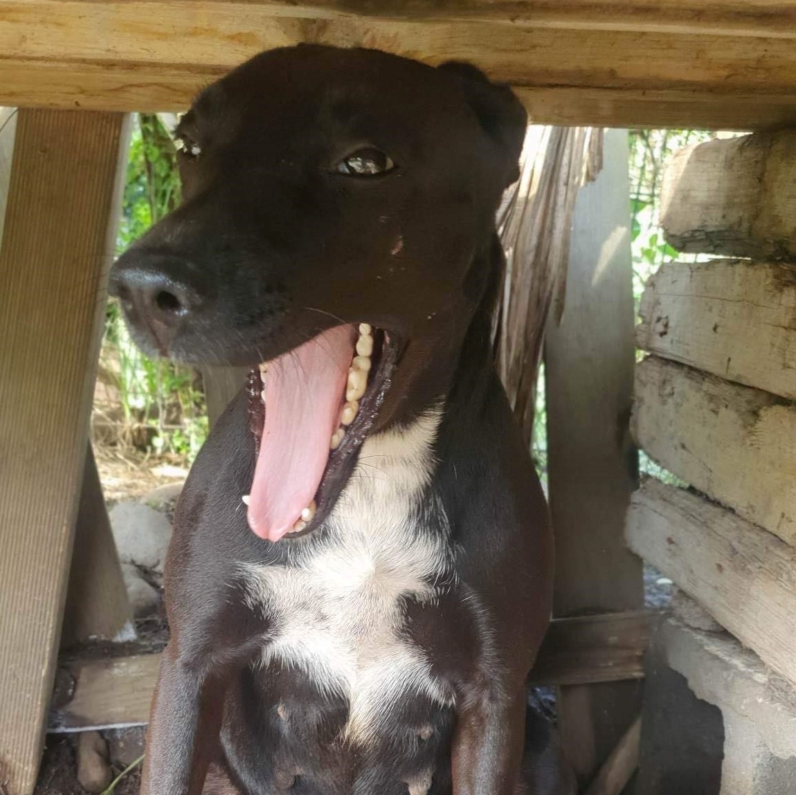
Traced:
POLYGON ((278 541, 329 515, 391 382, 396 345, 367 323, 338 325, 249 373, 257 462, 249 527, 278 541))

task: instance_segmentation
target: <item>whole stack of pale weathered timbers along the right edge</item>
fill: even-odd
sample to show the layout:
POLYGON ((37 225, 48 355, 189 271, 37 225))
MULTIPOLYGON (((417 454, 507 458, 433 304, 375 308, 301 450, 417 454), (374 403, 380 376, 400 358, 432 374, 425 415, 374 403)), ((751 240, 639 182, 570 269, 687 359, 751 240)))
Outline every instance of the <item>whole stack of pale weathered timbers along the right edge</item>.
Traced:
POLYGON ((638 446, 690 488, 647 480, 626 537, 734 636, 669 619, 654 644, 696 696, 720 707, 720 792, 792 793, 796 131, 677 153, 661 225, 680 251, 728 259, 669 263, 646 286, 637 344, 647 356, 636 370, 631 427, 638 446), (721 682, 710 686, 709 671, 721 682), (750 692, 771 708, 759 708, 763 696, 751 708, 738 695, 750 692))

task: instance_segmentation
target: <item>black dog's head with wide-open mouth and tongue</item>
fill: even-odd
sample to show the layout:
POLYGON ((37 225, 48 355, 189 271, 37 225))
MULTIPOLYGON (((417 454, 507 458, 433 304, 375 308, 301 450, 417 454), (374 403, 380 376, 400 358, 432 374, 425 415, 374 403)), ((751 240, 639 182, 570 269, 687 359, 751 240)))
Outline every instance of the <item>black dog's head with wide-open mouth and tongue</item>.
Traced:
POLYGON ((313 438, 281 507, 261 505, 275 472, 258 461, 259 534, 301 505, 296 526, 314 524, 334 462, 443 394, 525 121, 467 64, 314 45, 249 60, 181 119, 183 204, 115 263, 111 290, 142 348, 255 368, 260 459, 279 450, 279 473, 313 438))

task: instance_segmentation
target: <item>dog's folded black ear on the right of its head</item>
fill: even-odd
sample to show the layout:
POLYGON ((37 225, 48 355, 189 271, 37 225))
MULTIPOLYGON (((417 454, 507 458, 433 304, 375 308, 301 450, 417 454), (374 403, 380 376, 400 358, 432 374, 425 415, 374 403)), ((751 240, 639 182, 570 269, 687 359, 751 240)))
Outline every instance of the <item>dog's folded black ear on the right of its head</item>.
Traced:
POLYGON ((448 60, 439 69, 455 75, 462 83, 470 106, 481 126, 505 156, 507 188, 520 176, 517 161, 525 141, 528 114, 509 86, 493 83, 479 68, 464 61, 448 60))

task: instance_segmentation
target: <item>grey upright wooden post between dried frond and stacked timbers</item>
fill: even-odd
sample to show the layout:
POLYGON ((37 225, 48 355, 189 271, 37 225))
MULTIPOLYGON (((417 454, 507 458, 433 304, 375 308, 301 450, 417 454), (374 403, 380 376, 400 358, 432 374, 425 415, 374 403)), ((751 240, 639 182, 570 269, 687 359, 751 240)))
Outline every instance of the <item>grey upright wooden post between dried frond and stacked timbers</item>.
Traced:
MULTIPOLYGON (((637 479, 627 155, 626 132, 607 131, 603 171, 576 203, 564 318, 545 344, 557 617, 643 604, 642 563, 622 540, 637 479)), ((637 682, 560 688, 564 752, 581 784, 630 727, 640 695, 637 682)))

